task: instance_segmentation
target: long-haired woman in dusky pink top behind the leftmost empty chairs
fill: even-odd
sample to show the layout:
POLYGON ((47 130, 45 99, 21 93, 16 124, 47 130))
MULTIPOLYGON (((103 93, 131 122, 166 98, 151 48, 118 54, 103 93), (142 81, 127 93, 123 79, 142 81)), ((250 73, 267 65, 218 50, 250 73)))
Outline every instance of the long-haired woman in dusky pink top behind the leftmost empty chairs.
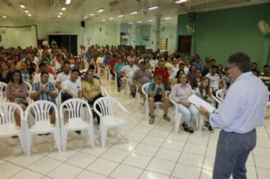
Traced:
MULTIPOLYGON (((11 81, 7 84, 7 99, 10 102, 19 104, 22 110, 25 110, 28 103, 27 97, 27 84, 22 81, 22 74, 19 70, 12 73, 11 81)), ((20 113, 15 111, 15 121, 18 126, 21 126, 20 113)))

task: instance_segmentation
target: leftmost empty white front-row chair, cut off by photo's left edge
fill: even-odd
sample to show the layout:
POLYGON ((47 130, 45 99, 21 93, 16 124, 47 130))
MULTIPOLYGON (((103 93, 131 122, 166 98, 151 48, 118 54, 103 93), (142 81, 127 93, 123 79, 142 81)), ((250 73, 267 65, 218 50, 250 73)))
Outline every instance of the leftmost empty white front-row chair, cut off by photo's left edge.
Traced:
POLYGON ((26 154, 25 125, 22 108, 15 103, 0 103, 0 138, 18 136, 22 150, 26 154), (21 127, 16 125, 14 113, 19 110, 21 127))

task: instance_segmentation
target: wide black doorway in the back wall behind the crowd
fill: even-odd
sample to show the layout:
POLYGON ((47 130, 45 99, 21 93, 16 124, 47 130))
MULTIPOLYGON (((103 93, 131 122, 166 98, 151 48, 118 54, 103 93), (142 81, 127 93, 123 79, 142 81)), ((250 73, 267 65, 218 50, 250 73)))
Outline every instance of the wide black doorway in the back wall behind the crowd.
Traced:
POLYGON ((63 34, 63 35, 49 35, 49 44, 52 39, 57 42, 58 48, 64 47, 69 52, 72 52, 74 56, 77 56, 77 35, 63 34))

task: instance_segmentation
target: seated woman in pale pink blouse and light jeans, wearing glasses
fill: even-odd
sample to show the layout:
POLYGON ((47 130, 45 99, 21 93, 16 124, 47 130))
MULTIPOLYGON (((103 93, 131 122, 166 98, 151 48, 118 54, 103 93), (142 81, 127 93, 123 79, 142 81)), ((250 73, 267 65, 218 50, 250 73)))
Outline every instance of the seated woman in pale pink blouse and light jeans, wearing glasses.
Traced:
POLYGON ((182 124, 184 131, 193 133, 192 123, 198 117, 199 112, 196 106, 191 104, 187 98, 194 92, 187 80, 186 74, 181 74, 177 78, 177 83, 171 91, 171 99, 179 104, 178 111, 183 114, 186 121, 182 124))

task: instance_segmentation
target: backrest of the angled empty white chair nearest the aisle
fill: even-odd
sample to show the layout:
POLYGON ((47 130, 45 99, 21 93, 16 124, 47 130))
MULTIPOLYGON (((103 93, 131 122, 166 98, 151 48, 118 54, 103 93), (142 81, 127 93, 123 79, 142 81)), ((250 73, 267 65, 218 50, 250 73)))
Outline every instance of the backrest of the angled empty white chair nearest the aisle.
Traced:
POLYGON ((93 108, 100 117, 113 117, 114 102, 120 104, 116 99, 112 97, 101 97, 94 102, 93 108), (97 110, 97 106, 100 108, 101 112, 97 110))

